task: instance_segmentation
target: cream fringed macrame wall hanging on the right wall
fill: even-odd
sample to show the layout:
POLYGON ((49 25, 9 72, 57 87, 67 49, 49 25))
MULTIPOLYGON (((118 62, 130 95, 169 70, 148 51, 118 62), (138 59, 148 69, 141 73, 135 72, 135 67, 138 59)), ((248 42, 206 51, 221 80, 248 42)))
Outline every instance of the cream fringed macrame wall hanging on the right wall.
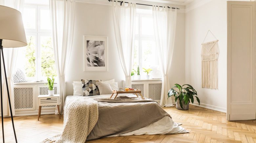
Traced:
MULTIPOLYGON (((208 30, 209 32, 210 30, 208 30)), ((207 32, 207 34, 208 34, 207 32)), ((210 31, 211 32, 211 31, 210 31)), ((207 34, 205 38, 207 37, 207 34)), ((212 32, 211 32, 212 34, 212 32)), ((213 34, 212 34, 213 35, 213 34)), ((218 40, 202 43, 202 88, 218 89, 218 40)))

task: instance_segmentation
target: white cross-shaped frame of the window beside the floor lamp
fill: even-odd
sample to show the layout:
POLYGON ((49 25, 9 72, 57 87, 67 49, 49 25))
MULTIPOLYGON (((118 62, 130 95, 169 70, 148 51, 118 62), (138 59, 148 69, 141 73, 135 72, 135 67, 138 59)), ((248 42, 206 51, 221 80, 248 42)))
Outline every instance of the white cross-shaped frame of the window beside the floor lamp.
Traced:
POLYGON ((52 27, 51 30, 45 30, 45 29, 40 29, 41 25, 40 25, 40 20, 41 20, 41 15, 40 15, 40 10, 41 9, 47 9, 50 10, 49 5, 35 5, 35 4, 25 4, 24 8, 35 8, 36 11, 36 17, 35 17, 35 21, 36 21, 36 25, 35 25, 35 29, 28 29, 25 28, 25 33, 26 35, 31 35, 31 36, 35 36, 35 41, 36 41, 36 45, 35 45, 35 77, 26 77, 26 79, 28 81, 32 81, 32 80, 45 80, 46 77, 43 77, 41 75, 41 36, 50 36, 52 37, 52 27))

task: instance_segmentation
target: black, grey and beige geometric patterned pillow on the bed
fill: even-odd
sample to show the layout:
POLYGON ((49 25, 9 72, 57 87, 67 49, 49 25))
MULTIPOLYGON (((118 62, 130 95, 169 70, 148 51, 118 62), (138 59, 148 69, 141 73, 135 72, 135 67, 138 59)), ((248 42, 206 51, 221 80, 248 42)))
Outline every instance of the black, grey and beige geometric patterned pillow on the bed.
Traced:
POLYGON ((84 80, 82 79, 83 85, 83 96, 94 96, 99 95, 99 89, 96 82, 101 82, 101 80, 84 80))

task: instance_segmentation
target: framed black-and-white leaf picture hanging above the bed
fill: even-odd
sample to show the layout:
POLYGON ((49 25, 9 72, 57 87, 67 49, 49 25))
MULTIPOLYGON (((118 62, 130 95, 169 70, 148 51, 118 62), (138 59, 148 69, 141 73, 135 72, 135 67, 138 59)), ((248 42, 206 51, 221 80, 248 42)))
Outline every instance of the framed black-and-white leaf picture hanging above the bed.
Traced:
POLYGON ((84 71, 108 71, 108 37, 84 36, 84 71))

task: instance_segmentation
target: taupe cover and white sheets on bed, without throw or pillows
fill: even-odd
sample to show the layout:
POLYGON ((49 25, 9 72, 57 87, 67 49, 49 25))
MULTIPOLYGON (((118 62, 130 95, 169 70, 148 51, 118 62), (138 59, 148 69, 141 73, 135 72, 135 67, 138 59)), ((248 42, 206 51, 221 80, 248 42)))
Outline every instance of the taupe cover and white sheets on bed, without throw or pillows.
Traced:
POLYGON ((153 100, 142 101, 133 94, 121 94, 116 100, 109 99, 110 96, 111 94, 66 97, 65 102, 76 98, 92 98, 98 101, 98 121, 86 140, 110 136, 188 133, 153 100), (112 110, 113 107, 117 107, 115 112, 112 110), (135 115, 127 114, 134 112, 136 112, 135 115), (131 125, 136 127, 130 127, 131 125))

